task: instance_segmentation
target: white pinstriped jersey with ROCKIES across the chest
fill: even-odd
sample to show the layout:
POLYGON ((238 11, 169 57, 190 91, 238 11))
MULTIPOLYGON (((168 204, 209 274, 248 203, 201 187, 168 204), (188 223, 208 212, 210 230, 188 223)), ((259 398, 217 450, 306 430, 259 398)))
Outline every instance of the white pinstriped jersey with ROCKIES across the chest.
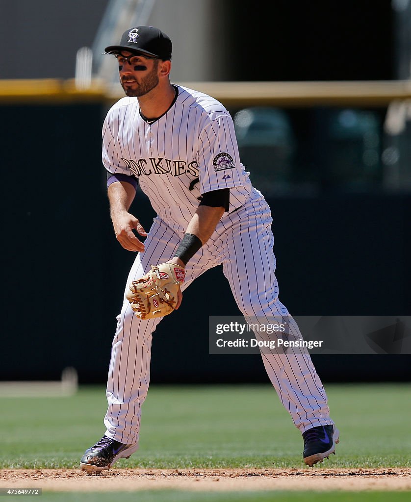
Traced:
POLYGON ((110 173, 138 178, 158 216, 185 231, 203 193, 230 188, 229 212, 261 194, 240 163, 227 109, 207 94, 175 87, 175 103, 151 124, 140 115, 137 97, 109 110, 102 161, 110 173))

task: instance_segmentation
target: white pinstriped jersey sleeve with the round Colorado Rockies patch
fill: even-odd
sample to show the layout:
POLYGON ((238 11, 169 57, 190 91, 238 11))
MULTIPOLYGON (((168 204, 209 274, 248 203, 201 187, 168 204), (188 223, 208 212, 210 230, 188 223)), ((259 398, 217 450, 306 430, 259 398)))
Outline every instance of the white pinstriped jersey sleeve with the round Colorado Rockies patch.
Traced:
POLYGON ((200 192, 241 187, 247 182, 240 162, 234 122, 227 112, 210 120, 199 138, 200 192))

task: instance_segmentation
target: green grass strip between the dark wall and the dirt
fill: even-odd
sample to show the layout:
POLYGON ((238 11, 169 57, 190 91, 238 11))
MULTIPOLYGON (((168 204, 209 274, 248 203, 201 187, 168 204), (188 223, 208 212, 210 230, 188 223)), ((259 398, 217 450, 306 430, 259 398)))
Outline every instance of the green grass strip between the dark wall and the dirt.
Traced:
MULTIPOLYGON (((410 384, 326 390, 341 442, 322 466, 411 466, 410 384)), ((78 466, 104 433, 106 407, 102 387, 69 398, 3 398, 0 467, 78 466)), ((140 450, 116 467, 299 468, 301 452, 301 435, 270 385, 152 386, 140 450)))

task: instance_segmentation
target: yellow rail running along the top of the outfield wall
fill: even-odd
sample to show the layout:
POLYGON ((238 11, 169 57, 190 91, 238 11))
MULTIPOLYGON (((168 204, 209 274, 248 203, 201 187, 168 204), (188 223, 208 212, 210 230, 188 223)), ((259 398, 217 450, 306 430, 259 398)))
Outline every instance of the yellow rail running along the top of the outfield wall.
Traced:
MULTIPOLYGON (((176 83, 210 94, 227 107, 386 106, 411 98, 410 80, 176 83)), ((87 90, 76 89, 73 79, 0 80, 0 103, 114 102, 123 96, 120 84, 113 90, 97 80, 87 90)))

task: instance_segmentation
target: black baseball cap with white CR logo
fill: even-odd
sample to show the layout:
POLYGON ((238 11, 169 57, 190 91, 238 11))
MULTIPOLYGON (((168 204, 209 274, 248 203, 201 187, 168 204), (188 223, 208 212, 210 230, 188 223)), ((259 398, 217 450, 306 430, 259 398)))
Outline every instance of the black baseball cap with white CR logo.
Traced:
POLYGON ((120 45, 110 45, 105 49, 107 54, 129 51, 159 59, 171 59, 171 50, 172 44, 168 35, 153 26, 130 28, 123 33, 120 45))

